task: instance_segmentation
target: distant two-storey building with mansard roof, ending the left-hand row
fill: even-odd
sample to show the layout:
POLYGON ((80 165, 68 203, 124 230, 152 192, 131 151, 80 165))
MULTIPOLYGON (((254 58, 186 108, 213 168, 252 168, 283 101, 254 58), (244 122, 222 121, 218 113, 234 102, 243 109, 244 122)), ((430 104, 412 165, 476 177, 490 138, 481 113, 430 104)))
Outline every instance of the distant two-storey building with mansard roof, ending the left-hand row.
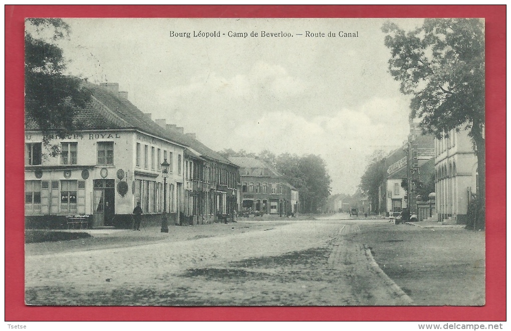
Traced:
POLYGON ((266 162, 249 157, 229 157, 239 167, 240 211, 290 215, 299 212, 298 190, 266 162))

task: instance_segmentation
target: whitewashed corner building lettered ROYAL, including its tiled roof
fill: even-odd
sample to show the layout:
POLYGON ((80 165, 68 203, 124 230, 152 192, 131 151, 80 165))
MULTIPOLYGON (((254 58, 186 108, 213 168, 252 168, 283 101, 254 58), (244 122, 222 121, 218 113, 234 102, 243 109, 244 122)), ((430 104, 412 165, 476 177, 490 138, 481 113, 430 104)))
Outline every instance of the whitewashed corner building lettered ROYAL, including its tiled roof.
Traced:
POLYGON ((35 122, 26 120, 26 227, 62 228, 66 216, 80 214, 89 215, 93 228, 129 228, 137 203, 144 223, 156 225, 164 201, 169 223, 185 222, 190 169, 203 162, 194 159, 192 168, 185 163, 189 137, 156 124, 125 99, 118 84, 88 85, 92 101, 76 116, 80 129, 64 139, 50 134, 51 145, 60 149, 57 157, 50 156, 51 146, 43 144, 35 122), (165 187, 164 160, 170 164, 165 187))

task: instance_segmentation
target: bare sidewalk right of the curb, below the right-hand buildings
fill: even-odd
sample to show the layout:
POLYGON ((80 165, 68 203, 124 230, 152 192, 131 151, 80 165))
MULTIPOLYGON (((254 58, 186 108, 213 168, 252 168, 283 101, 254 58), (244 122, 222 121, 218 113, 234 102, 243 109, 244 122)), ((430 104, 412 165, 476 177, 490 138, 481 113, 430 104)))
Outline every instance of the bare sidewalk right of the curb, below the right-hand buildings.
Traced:
POLYGON ((417 305, 484 305, 485 232, 464 226, 362 226, 380 268, 417 305))

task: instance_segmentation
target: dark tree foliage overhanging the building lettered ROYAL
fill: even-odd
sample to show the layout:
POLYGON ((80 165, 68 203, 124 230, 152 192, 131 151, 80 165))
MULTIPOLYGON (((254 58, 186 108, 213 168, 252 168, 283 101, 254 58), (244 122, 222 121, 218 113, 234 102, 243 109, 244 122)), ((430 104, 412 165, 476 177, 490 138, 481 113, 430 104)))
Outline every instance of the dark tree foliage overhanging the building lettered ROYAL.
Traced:
MULTIPOLYGON (((25 29, 25 116, 42 130, 63 138, 78 125, 75 114, 90 101, 90 93, 78 77, 64 75, 65 61, 56 41, 69 34, 58 18, 28 18, 25 29)), ((55 156, 57 145, 50 149, 55 156)))

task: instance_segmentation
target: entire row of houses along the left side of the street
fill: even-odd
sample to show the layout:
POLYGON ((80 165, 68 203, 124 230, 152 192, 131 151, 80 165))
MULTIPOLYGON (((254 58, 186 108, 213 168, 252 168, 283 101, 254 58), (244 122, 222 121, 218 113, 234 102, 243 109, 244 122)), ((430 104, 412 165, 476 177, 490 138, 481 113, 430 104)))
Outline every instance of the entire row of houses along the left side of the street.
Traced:
POLYGON ((128 101, 118 83, 86 84, 92 101, 78 113, 73 134, 43 137, 26 119, 28 228, 59 228, 71 215, 89 215, 94 228, 129 228, 137 203, 147 224, 159 224, 164 210, 173 225, 234 219, 248 201, 254 211, 297 212, 297 190, 263 162, 225 158, 183 127, 153 121, 128 101), (58 157, 50 156, 43 138, 58 145, 58 157), (164 160, 169 163, 165 181, 164 160))

